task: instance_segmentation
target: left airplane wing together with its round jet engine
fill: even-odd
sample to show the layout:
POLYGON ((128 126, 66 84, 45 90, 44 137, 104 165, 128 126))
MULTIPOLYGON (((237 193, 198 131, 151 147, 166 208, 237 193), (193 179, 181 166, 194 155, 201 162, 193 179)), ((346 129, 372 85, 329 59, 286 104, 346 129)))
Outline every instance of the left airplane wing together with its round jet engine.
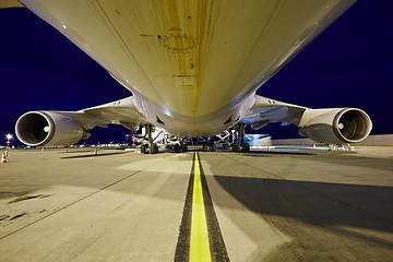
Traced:
POLYGON ((138 130, 148 121, 130 96, 79 111, 29 111, 19 118, 15 131, 21 142, 31 146, 70 145, 90 138, 93 128, 110 123, 138 130))

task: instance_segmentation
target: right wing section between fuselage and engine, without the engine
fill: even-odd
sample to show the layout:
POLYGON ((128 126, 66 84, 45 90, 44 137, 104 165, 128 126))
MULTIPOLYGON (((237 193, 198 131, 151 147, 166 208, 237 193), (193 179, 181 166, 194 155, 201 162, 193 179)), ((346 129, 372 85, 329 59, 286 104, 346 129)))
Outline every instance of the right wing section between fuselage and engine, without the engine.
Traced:
POLYGON ((306 109, 308 108, 255 95, 254 105, 241 122, 250 124, 254 130, 261 129, 270 122, 299 126, 306 109))

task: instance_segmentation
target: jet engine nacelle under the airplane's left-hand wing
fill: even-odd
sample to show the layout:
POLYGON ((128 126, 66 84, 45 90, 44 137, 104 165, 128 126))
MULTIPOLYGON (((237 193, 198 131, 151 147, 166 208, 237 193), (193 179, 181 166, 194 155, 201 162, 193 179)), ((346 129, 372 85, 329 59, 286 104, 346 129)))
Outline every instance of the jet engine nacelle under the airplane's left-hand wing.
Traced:
POLYGON ((90 132, 70 115, 59 111, 26 112, 16 121, 16 136, 31 146, 71 145, 88 139, 90 132))

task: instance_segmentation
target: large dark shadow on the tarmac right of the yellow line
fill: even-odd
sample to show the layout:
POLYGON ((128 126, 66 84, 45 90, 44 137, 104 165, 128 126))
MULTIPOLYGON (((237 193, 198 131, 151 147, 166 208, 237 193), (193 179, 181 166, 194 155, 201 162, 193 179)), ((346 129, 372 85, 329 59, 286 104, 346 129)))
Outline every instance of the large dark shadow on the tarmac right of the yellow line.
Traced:
MULTIPOLYGON (((393 248, 393 240, 374 238, 344 227, 393 233, 393 188, 266 178, 214 176, 248 210, 272 217, 293 218, 393 248)), ((225 200, 217 205, 228 206, 225 200)), ((267 219, 269 221, 269 219, 267 219)), ((274 219, 273 224, 274 223, 274 219)), ((281 222, 282 223, 282 222, 281 222)), ((276 226, 281 227, 281 223, 276 226)))

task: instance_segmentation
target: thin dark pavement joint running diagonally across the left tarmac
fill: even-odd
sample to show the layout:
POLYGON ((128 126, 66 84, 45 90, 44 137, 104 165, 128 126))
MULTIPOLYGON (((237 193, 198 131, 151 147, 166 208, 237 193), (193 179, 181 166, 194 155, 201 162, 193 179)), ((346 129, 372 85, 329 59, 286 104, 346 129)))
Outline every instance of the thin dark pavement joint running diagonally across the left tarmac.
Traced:
POLYGON ((145 167, 145 168, 143 168, 143 169, 141 169, 141 170, 133 171, 133 172, 131 172, 130 175, 127 175, 126 177, 122 177, 122 178, 116 180, 115 182, 111 182, 111 183, 109 183, 109 184, 107 184, 107 186, 105 186, 105 187, 103 187, 103 188, 100 188, 100 189, 98 189, 98 190, 96 190, 96 191, 94 191, 94 192, 92 192, 92 193, 90 193, 90 194, 87 194, 87 195, 79 199, 79 200, 75 200, 75 201, 73 201, 73 202, 71 202, 71 203, 69 203, 69 204, 60 207, 59 210, 55 210, 53 212, 51 212, 51 213, 49 213, 49 214, 47 214, 47 215, 45 215, 45 216, 43 216, 43 217, 39 217, 39 218, 36 219, 36 221, 33 221, 33 222, 31 222, 31 223, 28 223, 28 224, 26 224, 26 225, 24 225, 24 226, 22 226, 22 227, 20 227, 20 228, 17 228, 17 229, 13 230, 13 231, 10 231, 9 234, 5 234, 4 236, 1 236, 1 237, 0 237, 0 240, 3 240, 4 238, 7 238, 7 237, 9 237, 9 236, 12 236, 13 234, 19 233, 19 231, 21 231, 21 230, 23 230, 23 229, 25 229, 25 228, 27 228, 27 227, 29 227, 29 226, 38 223, 38 222, 40 222, 40 221, 44 221, 45 218, 48 218, 49 216, 52 216, 52 215, 59 213, 60 211, 67 210, 68 207, 72 206, 72 205, 74 205, 74 204, 78 204, 79 202, 82 202, 83 200, 86 200, 86 199, 91 198, 92 195, 97 194, 97 193, 99 193, 99 192, 102 192, 102 191, 104 191, 104 190, 106 190, 106 189, 108 189, 108 188, 110 188, 110 187, 112 187, 112 186, 115 186, 115 184, 117 184, 117 183, 119 183, 119 182, 121 182, 121 181, 123 181, 123 180, 126 180, 126 179, 128 179, 128 178, 130 178, 130 177, 132 177, 132 176, 134 176, 134 175, 136 175, 136 174, 139 174, 139 172, 141 172, 141 171, 143 171, 143 170, 145 170, 145 169, 147 169, 147 168, 150 168, 150 167, 152 167, 152 166, 160 163, 160 162, 163 162, 163 160, 165 160, 165 159, 166 159, 166 158, 163 158, 163 159, 160 159, 159 162, 155 162, 155 163, 153 163, 152 165, 148 165, 147 167, 145 167))

